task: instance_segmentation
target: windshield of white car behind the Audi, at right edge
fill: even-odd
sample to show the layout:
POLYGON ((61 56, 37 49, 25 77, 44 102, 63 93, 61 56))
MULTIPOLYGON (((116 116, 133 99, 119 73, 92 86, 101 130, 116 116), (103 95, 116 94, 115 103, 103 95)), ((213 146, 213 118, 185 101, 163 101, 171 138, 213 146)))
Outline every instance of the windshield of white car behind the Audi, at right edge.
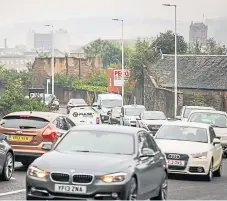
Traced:
POLYGON ((227 116, 220 113, 196 112, 190 115, 188 121, 211 124, 219 128, 227 128, 227 116))

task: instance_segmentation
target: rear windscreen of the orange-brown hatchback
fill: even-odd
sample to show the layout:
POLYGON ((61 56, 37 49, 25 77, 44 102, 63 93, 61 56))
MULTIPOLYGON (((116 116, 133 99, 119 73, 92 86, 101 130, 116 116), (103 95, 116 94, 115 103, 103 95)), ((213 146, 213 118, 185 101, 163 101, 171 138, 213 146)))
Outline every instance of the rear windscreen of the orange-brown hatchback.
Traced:
POLYGON ((48 120, 40 117, 7 116, 1 120, 0 126, 5 128, 41 129, 48 123, 48 120))

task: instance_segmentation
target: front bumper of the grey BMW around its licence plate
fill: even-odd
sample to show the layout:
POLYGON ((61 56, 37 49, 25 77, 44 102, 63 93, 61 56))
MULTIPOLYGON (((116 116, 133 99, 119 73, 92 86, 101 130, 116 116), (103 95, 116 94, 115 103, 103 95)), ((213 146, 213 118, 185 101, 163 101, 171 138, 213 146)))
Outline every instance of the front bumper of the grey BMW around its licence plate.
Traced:
MULTIPOLYGON (((129 181, 125 183, 119 184, 105 184, 101 181, 95 181, 94 183, 87 186, 86 194, 71 194, 71 193, 59 193, 55 192, 54 186, 57 183, 50 181, 40 181, 37 179, 33 179, 30 176, 26 178, 26 193, 28 197, 32 197, 34 199, 78 199, 78 200, 100 200, 100 199, 126 199, 126 195, 129 189, 129 181), (113 194, 118 195, 118 197, 114 197, 113 194)), ((67 184, 72 185, 72 184, 67 184)), ((82 186, 82 185, 81 185, 82 186)))

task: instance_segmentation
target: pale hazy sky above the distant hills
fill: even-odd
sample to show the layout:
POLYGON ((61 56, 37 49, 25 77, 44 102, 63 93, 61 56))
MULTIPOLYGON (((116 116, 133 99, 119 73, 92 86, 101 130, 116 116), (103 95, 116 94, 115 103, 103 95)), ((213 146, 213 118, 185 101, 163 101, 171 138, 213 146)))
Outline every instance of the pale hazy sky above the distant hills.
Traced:
POLYGON ((93 16, 172 19, 162 3, 178 5, 179 21, 222 17, 227 8, 227 0, 0 0, 0 25, 93 16))

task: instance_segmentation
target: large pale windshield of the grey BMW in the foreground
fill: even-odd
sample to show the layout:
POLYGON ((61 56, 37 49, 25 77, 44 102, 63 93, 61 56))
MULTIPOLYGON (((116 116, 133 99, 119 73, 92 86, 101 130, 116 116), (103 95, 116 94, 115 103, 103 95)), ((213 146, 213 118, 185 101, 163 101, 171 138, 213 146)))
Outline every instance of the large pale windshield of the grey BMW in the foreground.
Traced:
POLYGON ((98 152, 132 155, 135 152, 132 134, 102 131, 70 131, 56 147, 60 152, 98 152))

